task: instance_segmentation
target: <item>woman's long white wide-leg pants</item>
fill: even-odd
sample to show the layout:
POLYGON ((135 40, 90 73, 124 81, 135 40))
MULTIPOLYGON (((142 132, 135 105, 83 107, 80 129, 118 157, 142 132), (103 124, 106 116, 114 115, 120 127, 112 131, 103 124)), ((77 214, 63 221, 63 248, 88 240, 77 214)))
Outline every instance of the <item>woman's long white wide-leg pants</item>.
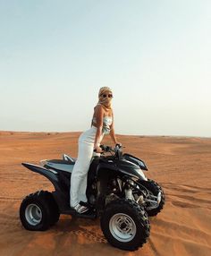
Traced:
POLYGON ((88 131, 80 134, 78 158, 72 169, 71 176, 71 207, 75 207, 80 201, 88 201, 86 196, 87 176, 90 162, 93 156, 96 132, 97 128, 95 126, 92 126, 88 131))

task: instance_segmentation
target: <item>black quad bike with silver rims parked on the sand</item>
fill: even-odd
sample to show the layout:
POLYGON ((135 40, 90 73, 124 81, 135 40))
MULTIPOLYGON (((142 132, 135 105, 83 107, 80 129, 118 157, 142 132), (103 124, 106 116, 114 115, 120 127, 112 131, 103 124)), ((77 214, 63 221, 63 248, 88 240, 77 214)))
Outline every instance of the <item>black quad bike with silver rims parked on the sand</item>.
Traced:
POLYGON ((143 173, 145 163, 122 147, 101 146, 104 153, 93 157, 89 166, 87 198, 89 211, 77 213, 70 207, 70 179, 75 158, 40 161, 41 166, 22 163, 33 172, 46 176, 54 192, 39 191, 22 202, 20 218, 28 230, 40 231, 53 226, 60 214, 79 218, 100 218, 105 238, 122 250, 135 251, 147 242, 148 216, 155 216, 165 204, 162 188, 143 173), (107 154, 107 153, 110 154, 107 154))

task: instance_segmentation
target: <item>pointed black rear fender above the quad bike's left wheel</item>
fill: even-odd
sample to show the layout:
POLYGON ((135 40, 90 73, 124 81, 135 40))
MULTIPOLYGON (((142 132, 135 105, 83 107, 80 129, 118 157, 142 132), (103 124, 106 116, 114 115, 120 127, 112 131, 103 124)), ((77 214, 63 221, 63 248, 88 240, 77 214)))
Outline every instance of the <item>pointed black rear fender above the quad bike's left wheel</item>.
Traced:
POLYGON ((25 166, 26 168, 30 169, 32 172, 38 173, 39 175, 45 176, 51 183, 53 183, 55 187, 55 191, 60 191, 60 187, 58 185, 58 175, 55 170, 49 170, 42 166, 36 166, 29 163, 22 163, 22 166, 25 166))

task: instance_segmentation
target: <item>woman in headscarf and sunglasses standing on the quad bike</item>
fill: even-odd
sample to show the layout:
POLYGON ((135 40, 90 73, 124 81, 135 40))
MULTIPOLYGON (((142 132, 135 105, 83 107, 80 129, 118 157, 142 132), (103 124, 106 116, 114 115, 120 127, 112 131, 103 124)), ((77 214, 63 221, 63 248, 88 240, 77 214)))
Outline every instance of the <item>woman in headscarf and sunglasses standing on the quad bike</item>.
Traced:
POLYGON ((104 134, 110 134, 114 144, 120 144, 116 141, 114 134, 112 98, 113 94, 110 88, 102 87, 99 90, 91 128, 80 134, 78 158, 72 170, 70 192, 71 207, 78 213, 84 213, 89 209, 86 206, 87 175, 94 149, 97 153, 102 152, 99 145, 104 134))

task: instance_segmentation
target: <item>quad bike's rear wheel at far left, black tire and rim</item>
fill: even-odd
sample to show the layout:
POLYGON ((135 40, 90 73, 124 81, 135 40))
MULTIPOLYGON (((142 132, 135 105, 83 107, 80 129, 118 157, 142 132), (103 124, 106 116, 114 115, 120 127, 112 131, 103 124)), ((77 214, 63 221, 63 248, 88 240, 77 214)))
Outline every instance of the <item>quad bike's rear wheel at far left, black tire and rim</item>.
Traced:
POLYGON ((50 192, 31 193, 21 202, 22 226, 32 231, 44 231, 54 225, 59 218, 59 212, 54 211, 54 203, 53 195, 50 192))

